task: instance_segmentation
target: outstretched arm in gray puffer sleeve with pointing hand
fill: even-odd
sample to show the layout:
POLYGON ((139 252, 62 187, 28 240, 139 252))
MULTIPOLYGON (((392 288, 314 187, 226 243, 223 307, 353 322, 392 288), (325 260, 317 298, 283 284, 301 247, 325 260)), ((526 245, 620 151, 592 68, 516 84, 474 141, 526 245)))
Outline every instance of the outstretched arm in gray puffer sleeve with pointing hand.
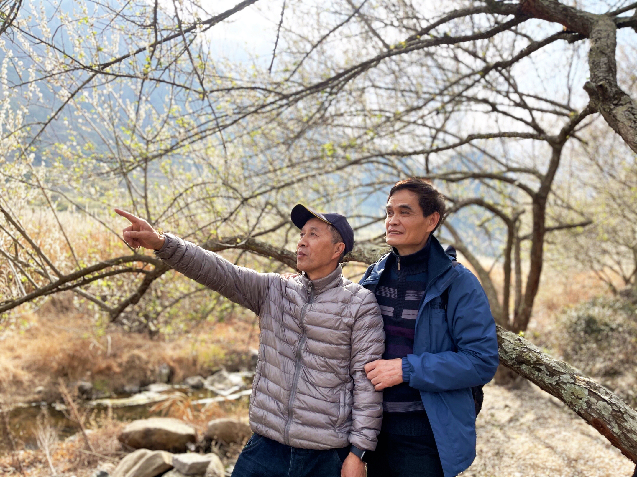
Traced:
POLYGON ((131 247, 153 249, 157 257, 177 272, 256 314, 261 312, 271 281, 281 280, 275 273, 258 273, 250 268, 233 265, 216 253, 175 235, 161 235, 147 221, 133 214, 120 209, 115 209, 115 212, 131 221, 131 225, 123 231, 124 240, 131 247))

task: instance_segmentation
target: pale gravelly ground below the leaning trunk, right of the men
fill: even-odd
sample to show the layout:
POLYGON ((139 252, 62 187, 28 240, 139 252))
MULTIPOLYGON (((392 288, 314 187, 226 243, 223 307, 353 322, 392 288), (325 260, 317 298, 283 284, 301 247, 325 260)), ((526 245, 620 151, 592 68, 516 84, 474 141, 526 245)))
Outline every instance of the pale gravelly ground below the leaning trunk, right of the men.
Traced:
POLYGON ((634 464, 559 399, 488 384, 476 459, 461 477, 631 477, 634 464))

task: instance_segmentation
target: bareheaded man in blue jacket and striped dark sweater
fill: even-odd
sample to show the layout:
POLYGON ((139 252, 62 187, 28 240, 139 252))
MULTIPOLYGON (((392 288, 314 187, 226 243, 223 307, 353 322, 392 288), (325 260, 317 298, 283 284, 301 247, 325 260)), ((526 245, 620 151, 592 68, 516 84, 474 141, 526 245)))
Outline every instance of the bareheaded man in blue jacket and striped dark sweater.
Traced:
POLYGON ((385 327, 385 354, 365 371, 383 390, 383 425, 368 477, 452 477, 475 458, 471 387, 497 370, 496 324, 480 282, 432 233, 445 213, 422 179, 397 183, 387 200, 392 251, 369 266, 385 327))

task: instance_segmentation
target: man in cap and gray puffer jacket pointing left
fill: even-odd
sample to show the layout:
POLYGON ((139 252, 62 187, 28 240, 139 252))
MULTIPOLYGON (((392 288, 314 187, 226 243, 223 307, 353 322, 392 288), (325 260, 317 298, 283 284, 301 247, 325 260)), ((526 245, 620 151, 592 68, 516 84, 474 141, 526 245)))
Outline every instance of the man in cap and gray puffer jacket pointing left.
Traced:
POLYGON ((375 450, 382 393, 364 365, 385 349, 373 293, 341 274, 354 233, 340 214, 292 209, 301 229, 298 277, 257 273, 217 254, 131 221, 124 239, 154 249, 178 272, 259 315, 259 361, 250 397, 248 441, 233 476, 364 477, 362 457, 375 450))

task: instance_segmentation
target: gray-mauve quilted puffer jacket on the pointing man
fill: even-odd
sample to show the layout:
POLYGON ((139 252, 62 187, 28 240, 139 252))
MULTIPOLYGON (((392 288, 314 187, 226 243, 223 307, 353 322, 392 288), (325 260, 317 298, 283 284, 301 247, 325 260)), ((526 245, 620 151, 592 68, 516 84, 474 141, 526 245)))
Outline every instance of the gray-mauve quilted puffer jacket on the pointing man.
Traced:
POLYGON ((164 234, 157 257, 259 315, 259 361, 250 397, 252 431, 282 444, 375 450, 382 392, 363 366, 385 349, 373 293, 341 275, 284 279, 236 266, 164 234))

